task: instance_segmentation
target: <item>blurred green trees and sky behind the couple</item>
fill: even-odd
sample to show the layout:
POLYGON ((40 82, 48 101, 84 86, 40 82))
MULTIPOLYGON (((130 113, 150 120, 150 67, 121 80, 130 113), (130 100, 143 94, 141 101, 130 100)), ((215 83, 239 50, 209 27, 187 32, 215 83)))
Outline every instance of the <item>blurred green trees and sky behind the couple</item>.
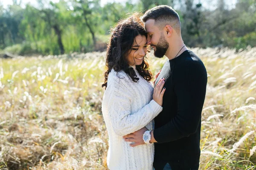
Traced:
POLYGON ((0 53, 103 51, 118 20, 163 4, 179 13, 189 47, 256 45, 255 0, 0 0, 0 53))

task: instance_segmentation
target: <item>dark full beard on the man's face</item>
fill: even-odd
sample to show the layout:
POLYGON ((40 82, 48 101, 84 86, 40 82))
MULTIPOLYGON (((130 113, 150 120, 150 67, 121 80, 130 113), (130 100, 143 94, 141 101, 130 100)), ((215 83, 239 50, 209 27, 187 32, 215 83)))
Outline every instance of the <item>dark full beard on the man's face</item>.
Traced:
POLYGON ((154 51, 154 56, 157 58, 163 58, 168 48, 169 43, 166 41, 165 37, 163 36, 163 33, 161 33, 160 39, 157 45, 155 45, 156 50, 154 51))

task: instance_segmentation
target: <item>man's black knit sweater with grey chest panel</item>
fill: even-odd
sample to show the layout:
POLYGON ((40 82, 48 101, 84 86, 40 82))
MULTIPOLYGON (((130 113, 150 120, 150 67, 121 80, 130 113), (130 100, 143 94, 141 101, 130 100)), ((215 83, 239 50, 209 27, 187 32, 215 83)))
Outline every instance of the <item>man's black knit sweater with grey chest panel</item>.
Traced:
POLYGON ((166 79, 163 111, 154 119, 155 170, 168 162, 172 170, 197 167, 200 158, 201 112, 207 71, 192 51, 166 61, 157 78, 166 79))

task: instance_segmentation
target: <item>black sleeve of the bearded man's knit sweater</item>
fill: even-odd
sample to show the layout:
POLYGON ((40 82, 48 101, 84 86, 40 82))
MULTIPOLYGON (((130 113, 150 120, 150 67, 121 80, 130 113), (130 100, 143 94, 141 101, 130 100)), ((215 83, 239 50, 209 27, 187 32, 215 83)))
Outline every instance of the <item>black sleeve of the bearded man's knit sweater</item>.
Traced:
POLYGON ((207 85, 204 65, 192 63, 182 68, 173 81, 177 115, 166 125, 154 130, 154 138, 158 143, 175 141, 196 133, 201 121, 207 85))

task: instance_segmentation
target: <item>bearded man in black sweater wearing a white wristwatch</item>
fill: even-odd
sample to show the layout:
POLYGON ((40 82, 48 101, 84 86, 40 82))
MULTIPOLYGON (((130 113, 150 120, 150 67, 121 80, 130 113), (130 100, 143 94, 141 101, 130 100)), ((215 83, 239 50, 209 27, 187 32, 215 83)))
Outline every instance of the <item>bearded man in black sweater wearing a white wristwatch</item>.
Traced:
POLYGON ((145 127, 123 136, 135 147, 155 143, 155 170, 198 170, 201 112, 207 85, 203 62, 183 43, 180 18, 169 6, 157 6, 142 17, 148 45, 155 57, 169 59, 156 80, 165 78, 163 111, 154 119, 154 130, 145 127))

